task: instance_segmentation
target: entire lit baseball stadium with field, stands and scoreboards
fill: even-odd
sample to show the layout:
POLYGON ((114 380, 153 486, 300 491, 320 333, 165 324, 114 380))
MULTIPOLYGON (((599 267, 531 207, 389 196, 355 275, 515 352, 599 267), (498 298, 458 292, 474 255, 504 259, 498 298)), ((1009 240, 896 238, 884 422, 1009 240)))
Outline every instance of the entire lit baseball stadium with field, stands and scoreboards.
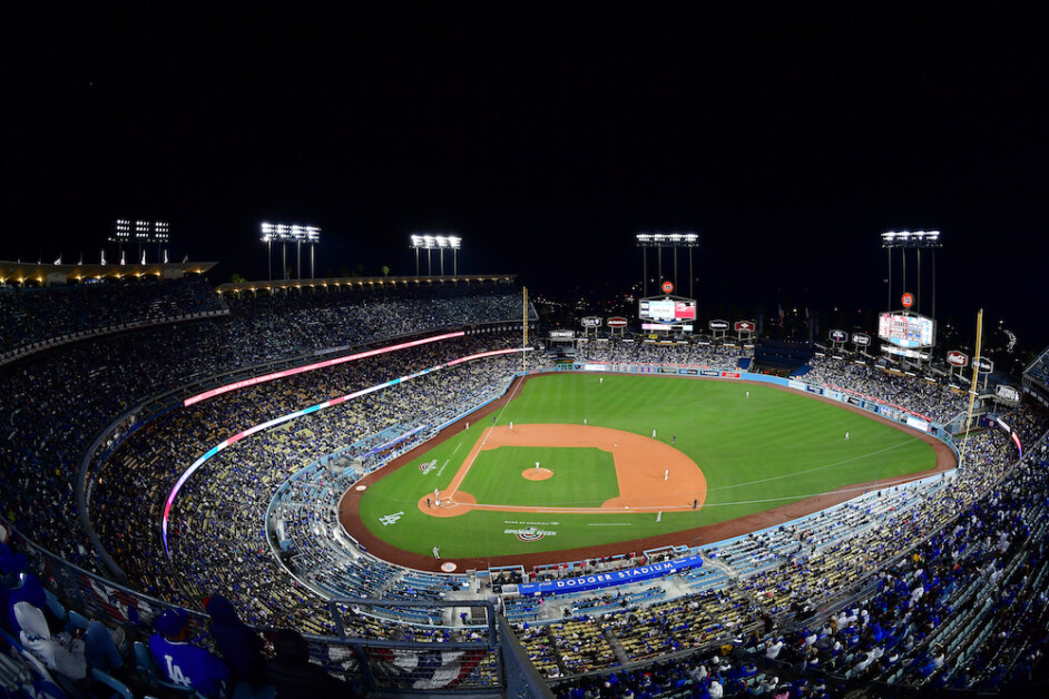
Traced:
POLYGON ((1045 670, 1049 350, 996 388, 906 295, 785 343, 669 282, 569 329, 514 275, 209 268, 0 263, 7 696, 1011 696, 1045 670), (157 638, 222 658, 220 689, 157 638))

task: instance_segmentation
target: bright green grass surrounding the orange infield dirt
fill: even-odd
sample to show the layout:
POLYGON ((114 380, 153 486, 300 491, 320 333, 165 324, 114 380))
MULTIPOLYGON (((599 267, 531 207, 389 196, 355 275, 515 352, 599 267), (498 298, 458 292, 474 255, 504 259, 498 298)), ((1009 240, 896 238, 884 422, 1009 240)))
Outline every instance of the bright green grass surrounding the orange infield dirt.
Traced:
MULTIPOLYGON (((447 519, 420 512, 419 499, 434 488, 449 485, 483 429, 492 424, 488 417, 373 484, 361 500, 361 516, 372 533, 409 551, 429 553, 440 545, 441 555, 448 558, 504 555, 682 531, 935 465, 932 447, 909 432, 793 392, 727 381, 605 375, 601 382, 591 374, 552 374, 528 381, 521 394, 497 414, 498 424, 503 425, 510 421, 582 424, 584 419, 590 425, 646 437, 656 430, 657 440, 666 443, 676 437, 674 446, 706 476, 705 505, 696 511, 664 512, 658 523, 654 514, 620 512, 526 515, 473 511, 447 519), (420 463, 431 461, 435 464, 429 473, 419 470, 420 463), (380 523, 379 518, 396 512, 403 514, 395 523, 380 523), (557 533, 531 542, 507 533, 528 524, 557 533)), ((478 502, 569 502, 578 506, 594 506, 594 499, 607 499, 602 493, 610 492, 572 489, 566 494, 555 483, 558 479, 529 482, 520 476, 519 461, 532 465, 537 460, 546 462, 545 455, 533 456, 537 452, 598 450, 529 447, 520 455, 510 451, 499 455, 504 449, 482 452, 484 467, 477 474, 471 469, 461 490, 476 495, 478 502), (500 465, 504 457, 512 480, 500 465)), ((605 483, 604 476, 589 478, 616 490, 608 496, 618 494, 614 476, 609 476, 610 483, 605 483)))

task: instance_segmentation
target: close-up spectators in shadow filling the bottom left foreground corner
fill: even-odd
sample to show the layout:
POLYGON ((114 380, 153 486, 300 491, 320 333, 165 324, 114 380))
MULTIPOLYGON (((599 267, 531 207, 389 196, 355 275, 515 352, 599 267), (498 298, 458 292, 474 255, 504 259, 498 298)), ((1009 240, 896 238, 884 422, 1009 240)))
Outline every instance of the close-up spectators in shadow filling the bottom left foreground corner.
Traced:
POLYGON ((6 696, 363 693, 360 662, 311 658, 298 630, 248 627, 220 594, 205 597, 205 613, 195 618, 168 607, 97 619, 67 609, 70 601, 45 588, 26 553, 0 530, 0 690, 6 696))

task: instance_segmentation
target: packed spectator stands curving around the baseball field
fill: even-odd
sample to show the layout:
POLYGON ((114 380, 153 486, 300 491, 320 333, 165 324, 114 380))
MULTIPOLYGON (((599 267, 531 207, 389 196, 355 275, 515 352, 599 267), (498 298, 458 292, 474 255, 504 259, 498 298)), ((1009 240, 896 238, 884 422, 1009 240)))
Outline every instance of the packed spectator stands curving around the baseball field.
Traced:
MULTIPOLYGON (((961 469, 724 541, 423 571, 360 545, 340 526, 339 503, 362 476, 508 392, 522 350, 512 278, 222 291, 185 279, 0 295, 0 513, 24 567, 68 609, 145 638, 161 610, 184 607, 206 636, 202 600, 220 592, 261 632, 304 632, 314 661, 350 689, 386 693, 685 697, 716 682, 725 696, 788 683, 812 696, 924 696, 1008 688, 1045 670, 1049 452, 1038 405, 996 408, 1013 432, 968 435, 961 469), (444 334, 457 336, 434 339, 444 334), (173 500, 186 466, 219 444, 173 500), (673 572, 521 593, 657 563, 673 572)), ((1026 377, 1038 380, 1046 356, 1026 377)), ((739 372, 752 358, 710 338, 612 341, 580 343, 573 366, 739 372)), ((555 370, 542 353, 528 361, 555 370)), ((945 381, 863 357, 817 353, 790 381, 869 401, 898 422, 920 419, 948 442, 944 426, 965 404, 945 381)), ((0 669, 31 664, 7 624, 0 639, 16 651, 0 669)), ((52 679, 69 693, 87 682, 52 679)))

